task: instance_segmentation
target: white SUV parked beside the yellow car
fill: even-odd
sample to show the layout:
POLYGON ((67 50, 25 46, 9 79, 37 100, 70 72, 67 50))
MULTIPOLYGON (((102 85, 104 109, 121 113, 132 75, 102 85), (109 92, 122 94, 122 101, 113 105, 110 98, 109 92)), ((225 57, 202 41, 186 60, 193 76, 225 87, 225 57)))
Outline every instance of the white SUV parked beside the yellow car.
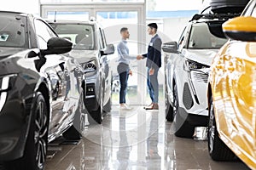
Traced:
POLYGON ((212 58, 227 42, 225 20, 236 14, 195 14, 178 42, 163 44, 166 77, 166 120, 175 135, 191 138, 194 128, 207 126, 207 79, 212 58))

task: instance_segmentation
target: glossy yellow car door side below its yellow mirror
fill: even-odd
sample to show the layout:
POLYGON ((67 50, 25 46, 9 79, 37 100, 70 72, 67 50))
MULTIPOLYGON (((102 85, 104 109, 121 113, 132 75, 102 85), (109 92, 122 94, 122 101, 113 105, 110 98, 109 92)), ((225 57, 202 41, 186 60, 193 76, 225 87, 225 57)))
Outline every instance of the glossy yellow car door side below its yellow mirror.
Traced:
POLYGON ((247 153, 253 153, 256 144, 255 48, 256 42, 232 41, 224 61, 228 84, 224 115, 229 127, 225 133, 247 153))

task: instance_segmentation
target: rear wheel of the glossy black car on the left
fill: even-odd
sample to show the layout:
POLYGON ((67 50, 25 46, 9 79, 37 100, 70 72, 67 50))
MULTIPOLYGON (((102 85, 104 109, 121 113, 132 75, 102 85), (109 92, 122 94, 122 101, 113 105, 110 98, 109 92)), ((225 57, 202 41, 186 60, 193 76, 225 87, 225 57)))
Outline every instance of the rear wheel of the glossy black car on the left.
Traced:
POLYGON ((80 101, 79 101, 79 108, 76 111, 73 120, 73 126, 69 127, 66 132, 62 135, 65 139, 68 140, 79 140, 82 138, 84 133, 84 92, 81 93, 80 101))

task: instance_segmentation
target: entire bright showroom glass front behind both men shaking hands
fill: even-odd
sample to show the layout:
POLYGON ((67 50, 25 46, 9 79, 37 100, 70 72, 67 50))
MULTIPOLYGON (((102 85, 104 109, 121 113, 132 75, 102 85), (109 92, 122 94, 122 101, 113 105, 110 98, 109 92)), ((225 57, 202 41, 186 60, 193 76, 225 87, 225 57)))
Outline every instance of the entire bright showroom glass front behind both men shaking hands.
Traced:
MULTIPOLYGON (((159 26, 158 33, 162 42, 178 40, 183 26, 197 13, 201 0, 180 0, 172 3, 166 0, 40 0, 40 15, 48 19, 88 20, 96 18, 105 29, 108 43, 115 46, 120 41, 119 29, 122 26, 129 28, 131 37, 129 40, 130 54, 143 54, 147 51, 150 36, 147 33, 147 25, 156 22, 159 26), (186 5, 184 5, 186 4, 186 5)), ((110 63, 113 65, 113 81, 117 79, 115 62, 117 54, 113 54, 110 63)), ((163 60, 163 59, 162 59, 163 60)), ((145 59, 137 62, 131 61, 131 69, 134 71, 129 77, 128 99, 129 104, 144 105, 150 102, 147 93, 147 76, 145 59)), ((160 99, 164 99, 164 72, 160 69, 160 99)), ((117 88, 113 89, 113 104, 119 103, 117 88)))

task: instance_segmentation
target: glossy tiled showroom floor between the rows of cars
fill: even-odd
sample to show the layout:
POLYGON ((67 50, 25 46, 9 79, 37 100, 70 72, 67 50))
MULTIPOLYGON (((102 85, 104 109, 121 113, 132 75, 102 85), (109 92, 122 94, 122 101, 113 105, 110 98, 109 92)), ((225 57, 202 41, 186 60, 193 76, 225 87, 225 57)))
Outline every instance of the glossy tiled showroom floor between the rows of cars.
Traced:
POLYGON ((102 125, 90 125, 77 145, 52 147, 55 156, 46 170, 209 169, 247 170, 242 162, 216 162, 208 156, 207 141, 181 139, 160 111, 119 111, 113 106, 102 125))

